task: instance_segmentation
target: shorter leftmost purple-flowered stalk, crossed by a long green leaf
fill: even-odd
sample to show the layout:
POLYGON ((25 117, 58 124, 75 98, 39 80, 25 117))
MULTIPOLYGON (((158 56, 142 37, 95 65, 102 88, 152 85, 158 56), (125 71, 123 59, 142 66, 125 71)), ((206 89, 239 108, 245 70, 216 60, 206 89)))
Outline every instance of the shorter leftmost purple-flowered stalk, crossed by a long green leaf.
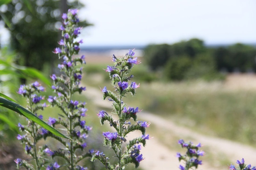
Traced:
MULTIPOLYGON (((36 81, 29 85, 20 85, 17 93, 27 98, 28 110, 37 115, 38 111, 43 110, 47 106, 46 103, 41 103, 41 100, 44 100, 44 97, 38 95, 42 91, 45 91, 45 88, 36 81)), ((43 119, 42 115, 39 115, 38 117, 43 119)), ((29 119, 27 119, 27 122, 27 125, 18 123, 19 130, 25 134, 18 134, 17 139, 25 145, 25 153, 33 157, 36 169, 40 169, 47 163, 47 161, 44 159, 46 154, 42 152, 44 146, 38 149, 37 143, 40 139, 45 138, 45 135, 49 132, 29 119)), ((15 159, 15 162, 17 168, 25 167, 31 169, 33 167, 26 160, 20 158, 15 159)))

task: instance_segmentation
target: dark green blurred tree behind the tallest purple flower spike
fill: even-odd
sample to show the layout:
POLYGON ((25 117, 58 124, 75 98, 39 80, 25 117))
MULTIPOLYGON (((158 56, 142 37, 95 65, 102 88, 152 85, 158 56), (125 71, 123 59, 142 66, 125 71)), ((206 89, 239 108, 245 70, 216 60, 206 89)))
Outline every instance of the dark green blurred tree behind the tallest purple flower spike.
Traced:
MULTIPOLYGON (((43 69, 44 64, 54 63, 52 53, 57 46, 61 15, 68 8, 80 8, 74 0, 12 0, 1 6, 0 20, 5 21, 11 32, 11 48, 18 53, 18 64, 43 69)), ((82 27, 90 24, 80 23, 82 27)))

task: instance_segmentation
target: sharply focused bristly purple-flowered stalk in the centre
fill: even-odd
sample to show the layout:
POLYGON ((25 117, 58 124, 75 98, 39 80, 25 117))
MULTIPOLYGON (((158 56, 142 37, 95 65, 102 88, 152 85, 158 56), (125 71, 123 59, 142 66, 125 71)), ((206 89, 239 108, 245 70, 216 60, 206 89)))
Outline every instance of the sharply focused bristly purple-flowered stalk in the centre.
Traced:
POLYGON ((130 82, 133 75, 129 75, 134 64, 139 64, 137 57, 133 57, 134 52, 129 50, 123 57, 115 57, 113 55, 112 61, 115 66, 108 66, 106 72, 109 72, 110 79, 114 91, 107 90, 106 87, 102 88, 103 100, 108 98, 113 104, 113 115, 117 116, 115 120, 112 115, 105 111, 100 111, 97 115, 100 117, 101 124, 104 121, 108 121, 110 126, 114 128, 115 132, 103 132, 104 136, 103 145, 110 147, 115 157, 118 159, 117 165, 111 165, 109 158, 105 157, 103 152, 97 151, 92 157, 92 161, 99 160, 106 169, 125 169, 128 163, 133 163, 135 167, 139 167, 139 163, 143 160, 142 154, 140 154, 141 145, 145 146, 146 140, 150 139, 149 135, 145 135, 145 128, 150 123, 137 121, 137 114, 141 111, 138 107, 127 107, 123 102, 123 97, 130 93, 132 96, 135 95, 136 88, 138 85, 135 82, 130 82), (135 123, 131 123, 130 119, 133 119, 135 123), (126 137, 129 133, 139 130, 142 136, 127 141, 126 137), (126 143, 126 145, 123 145, 126 143))

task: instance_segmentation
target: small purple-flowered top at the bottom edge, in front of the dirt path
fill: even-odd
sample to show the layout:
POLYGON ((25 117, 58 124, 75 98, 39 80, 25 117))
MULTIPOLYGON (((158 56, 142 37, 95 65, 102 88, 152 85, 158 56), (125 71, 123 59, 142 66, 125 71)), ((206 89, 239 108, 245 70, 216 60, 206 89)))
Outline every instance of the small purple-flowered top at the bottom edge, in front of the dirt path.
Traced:
POLYGON ((188 170, 193 167, 197 169, 198 165, 202 165, 202 161, 199 160, 199 156, 204 155, 204 152, 199 150, 199 148, 201 148, 201 143, 198 145, 193 145, 193 142, 185 143, 183 139, 180 139, 178 143, 182 148, 187 149, 185 155, 181 155, 179 152, 176 154, 176 157, 179 158, 179 161, 184 160, 185 162, 185 167, 182 165, 179 166, 181 170, 188 170))

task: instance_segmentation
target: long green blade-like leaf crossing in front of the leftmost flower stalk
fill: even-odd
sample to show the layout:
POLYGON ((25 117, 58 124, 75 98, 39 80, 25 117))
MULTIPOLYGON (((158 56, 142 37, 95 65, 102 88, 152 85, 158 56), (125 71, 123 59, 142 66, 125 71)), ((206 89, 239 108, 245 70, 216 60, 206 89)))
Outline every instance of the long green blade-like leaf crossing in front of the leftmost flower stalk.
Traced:
POLYGON ((54 129, 52 126, 45 123, 39 117, 35 116, 33 113, 31 113, 30 111, 28 111, 27 109, 25 109, 24 107, 19 105, 18 103, 14 102, 13 99, 8 100, 4 97, 0 97, 0 105, 3 107, 6 107, 8 109, 11 109, 14 112, 19 113, 22 116, 25 116, 26 118, 28 118, 28 119, 34 121, 35 123, 39 124, 40 126, 42 126, 44 129, 48 130, 49 132, 52 132, 56 136, 70 139, 67 136, 60 133, 59 131, 57 131, 56 129, 54 129))

